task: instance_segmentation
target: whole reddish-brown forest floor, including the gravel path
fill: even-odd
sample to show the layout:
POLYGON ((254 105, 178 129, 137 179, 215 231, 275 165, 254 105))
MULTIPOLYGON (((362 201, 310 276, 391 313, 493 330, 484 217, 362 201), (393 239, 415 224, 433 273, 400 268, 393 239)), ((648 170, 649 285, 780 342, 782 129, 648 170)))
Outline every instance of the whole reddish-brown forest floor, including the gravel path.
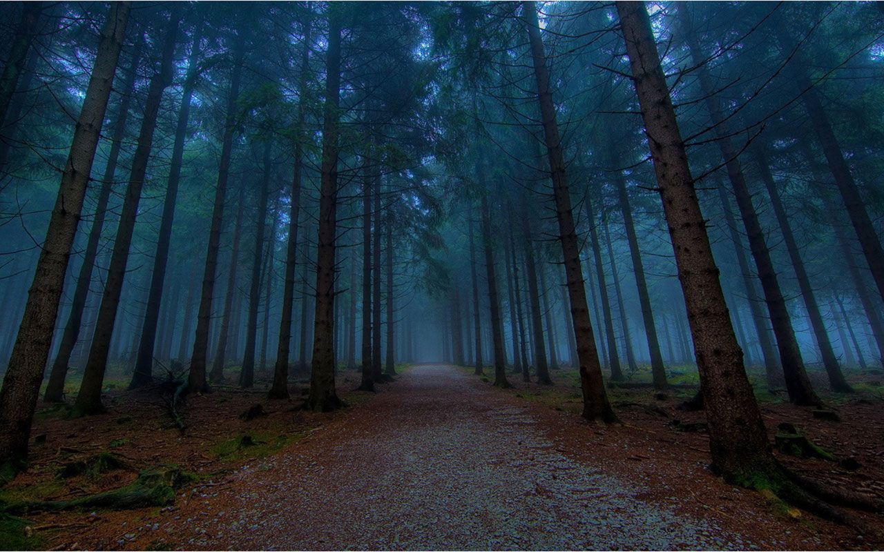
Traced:
MULTIPOLYGON (((91 495, 160 466, 189 478, 173 505, 0 518, 0 548, 875 548, 715 477, 703 412, 678 408, 690 389, 612 389, 624 423, 605 428, 579 417, 574 370, 553 371, 553 386, 511 375, 506 390, 471 371, 409 367, 376 394, 353 391, 358 374, 344 373, 350 407, 330 414, 302 411, 297 394, 222 388, 188 398, 183 431, 159 396, 111 392, 107 414, 79 420, 42 408, 33 467, 0 501, 91 495), (240 419, 253 405, 263 415, 240 419), (108 455, 118 463, 70 469, 108 455)), ((880 495, 880 379, 858 374, 861 393, 825 396, 842 422, 761 397, 772 439, 792 424, 832 455, 783 461, 880 495)))

